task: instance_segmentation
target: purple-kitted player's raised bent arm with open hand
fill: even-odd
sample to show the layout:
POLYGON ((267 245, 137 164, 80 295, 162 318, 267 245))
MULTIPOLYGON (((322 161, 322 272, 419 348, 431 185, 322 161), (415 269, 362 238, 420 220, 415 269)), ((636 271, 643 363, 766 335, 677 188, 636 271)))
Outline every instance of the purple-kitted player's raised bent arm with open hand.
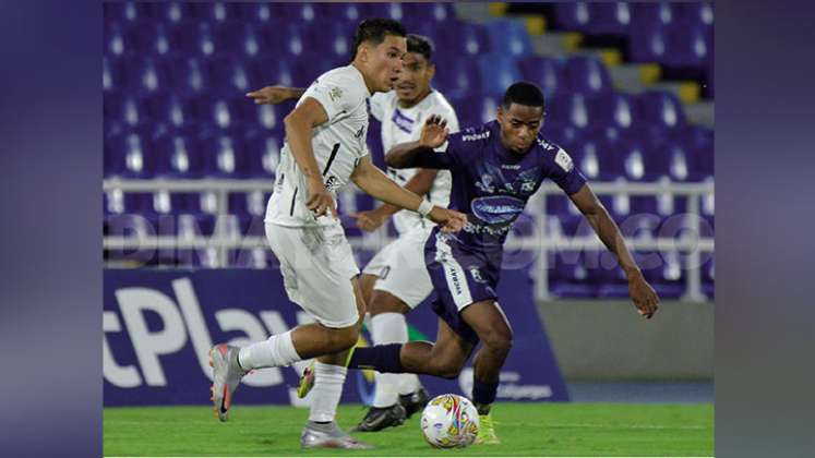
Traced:
POLYGON ((447 141, 447 121, 433 114, 424 122, 419 140, 391 148, 385 154, 385 162, 395 169, 448 169, 450 158, 433 150, 447 141))

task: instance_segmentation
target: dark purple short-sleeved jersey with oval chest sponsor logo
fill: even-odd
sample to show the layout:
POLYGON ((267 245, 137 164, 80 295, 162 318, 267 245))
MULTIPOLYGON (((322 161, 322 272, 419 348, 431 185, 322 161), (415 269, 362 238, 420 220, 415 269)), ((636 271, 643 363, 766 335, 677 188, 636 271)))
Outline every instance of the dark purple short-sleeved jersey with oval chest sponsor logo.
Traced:
POLYGON ((572 158, 540 133, 525 155, 501 144, 498 121, 450 135, 446 154, 420 153, 417 167, 450 169, 450 208, 467 214, 467 225, 450 241, 471 251, 501 252, 526 202, 550 178, 566 194, 586 183, 572 158))

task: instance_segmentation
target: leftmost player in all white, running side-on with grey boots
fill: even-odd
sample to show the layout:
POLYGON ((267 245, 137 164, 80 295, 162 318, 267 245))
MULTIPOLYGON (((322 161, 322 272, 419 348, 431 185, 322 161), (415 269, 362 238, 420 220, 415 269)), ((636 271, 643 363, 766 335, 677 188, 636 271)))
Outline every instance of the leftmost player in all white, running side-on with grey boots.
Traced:
POLYGON ((266 238, 280 262, 289 299, 315 323, 248 347, 219 343, 211 350, 212 400, 221 421, 227 420, 245 373, 316 358, 301 445, 370 447, 334 421, 347 350, 359 338, 365 308, 356 280, 359 269, 336 217, 335 192, 350 180, 375 198, 418 212, 447 231, 457 231, 465 222, 464 215, 394 183, 368 156, 368 99, 388 91, 398 79, 405 36, 396 21, 363 21, 356 32, 351 63, 320 75, 285 119, 286 143, 266 208, 266 238))

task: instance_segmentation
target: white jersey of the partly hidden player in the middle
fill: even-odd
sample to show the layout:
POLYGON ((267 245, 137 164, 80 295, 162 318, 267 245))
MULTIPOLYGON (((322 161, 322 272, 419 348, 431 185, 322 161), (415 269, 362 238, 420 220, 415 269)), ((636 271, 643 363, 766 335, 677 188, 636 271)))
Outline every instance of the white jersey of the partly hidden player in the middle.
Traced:
MULTIPOLYGON (((382 122, 382 147, 387 153, 393 146, 419 140, 421 128, 431 114, 438 114, 447 120, 450 133, 458 132, 458 118, 446 98, 438 91, 432 91, 422 101, 410 108, 399 107, 399 99, 395 91, 377 93, 371 97, 371 114, 382 122)), ((446 144, 438 150, 446 149, 446 144)), ((387 174, 399 185, 404 186, 419 171, 419 169, 392 169, 387 174)), ((430 191, 428 201, 440 207, 450 203, 450 191, 453 179, 447 170, 439 170, 430 191)), ((432 225, 416 212, 399 210, 394 214, 394 226, 399 234, 416 228, 432 225)))

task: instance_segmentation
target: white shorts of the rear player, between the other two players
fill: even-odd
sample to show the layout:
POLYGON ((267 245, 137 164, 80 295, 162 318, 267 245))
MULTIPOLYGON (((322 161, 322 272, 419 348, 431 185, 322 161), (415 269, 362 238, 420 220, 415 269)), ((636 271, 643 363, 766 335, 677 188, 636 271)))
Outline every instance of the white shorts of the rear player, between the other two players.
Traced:
POLYGON ((433 291, 424 265, 424 242, 433 228, 417 228, 399 236, 376 253, 362 270, 379 277, 373 289, 389 292, 410 309, 433 291))

